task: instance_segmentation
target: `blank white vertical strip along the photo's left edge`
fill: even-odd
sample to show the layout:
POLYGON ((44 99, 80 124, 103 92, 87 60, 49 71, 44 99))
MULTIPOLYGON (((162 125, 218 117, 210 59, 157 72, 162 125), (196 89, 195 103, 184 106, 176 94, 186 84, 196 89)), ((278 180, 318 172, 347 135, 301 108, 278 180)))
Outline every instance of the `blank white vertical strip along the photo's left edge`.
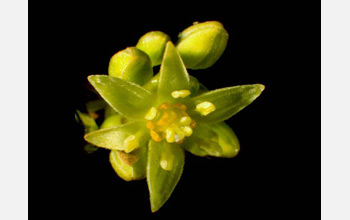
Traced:
POLYGON ((28 219, 28 2, 0 1, 0 219, 28 219))

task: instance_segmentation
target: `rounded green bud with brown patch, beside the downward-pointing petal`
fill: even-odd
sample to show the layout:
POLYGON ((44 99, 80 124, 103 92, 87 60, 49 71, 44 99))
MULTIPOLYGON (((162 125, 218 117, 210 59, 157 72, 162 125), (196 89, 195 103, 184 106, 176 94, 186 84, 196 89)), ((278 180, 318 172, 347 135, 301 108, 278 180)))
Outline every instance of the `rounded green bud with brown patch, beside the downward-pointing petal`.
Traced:
POLYGON ((143 146, 131 153, 111 150, 109 161, 118 176, 125 181, 141 180, 146 177, 147 147, 143 146))

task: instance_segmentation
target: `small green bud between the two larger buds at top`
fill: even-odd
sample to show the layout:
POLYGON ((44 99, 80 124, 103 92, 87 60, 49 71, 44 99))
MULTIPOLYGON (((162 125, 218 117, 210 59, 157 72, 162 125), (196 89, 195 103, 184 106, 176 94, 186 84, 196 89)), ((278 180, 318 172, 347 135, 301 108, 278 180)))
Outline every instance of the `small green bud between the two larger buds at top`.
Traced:
POLYGON ((160 31, 151 31, 143 35, 137 42, 136 47, 151 58, 152 66, 161 64, 166 43, 170 37, 160 31))

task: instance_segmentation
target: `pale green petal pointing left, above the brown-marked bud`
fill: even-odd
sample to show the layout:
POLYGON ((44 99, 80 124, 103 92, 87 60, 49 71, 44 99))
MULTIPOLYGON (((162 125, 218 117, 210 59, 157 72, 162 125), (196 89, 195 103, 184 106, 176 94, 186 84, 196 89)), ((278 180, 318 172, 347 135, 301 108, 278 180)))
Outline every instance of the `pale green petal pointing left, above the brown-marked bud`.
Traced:
POLYGON ((85 140, 97 147, 115 150, 126 150, 125 140, 135 136, 138 145, 146 145, 149 139, 148 130, 143 123, 132 122, 119 127, 100 129, 85 135, 85 140))

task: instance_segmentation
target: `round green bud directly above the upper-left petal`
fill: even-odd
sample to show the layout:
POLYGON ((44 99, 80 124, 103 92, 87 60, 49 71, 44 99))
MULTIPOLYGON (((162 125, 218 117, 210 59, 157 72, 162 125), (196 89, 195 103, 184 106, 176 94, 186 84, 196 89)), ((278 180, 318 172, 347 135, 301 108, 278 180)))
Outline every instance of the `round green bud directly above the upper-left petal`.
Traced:
POLYGON ((143 85, 153 75, 151 60, 145 52, 136 47, 128 47, 112 56, 108 74, 143 85))

